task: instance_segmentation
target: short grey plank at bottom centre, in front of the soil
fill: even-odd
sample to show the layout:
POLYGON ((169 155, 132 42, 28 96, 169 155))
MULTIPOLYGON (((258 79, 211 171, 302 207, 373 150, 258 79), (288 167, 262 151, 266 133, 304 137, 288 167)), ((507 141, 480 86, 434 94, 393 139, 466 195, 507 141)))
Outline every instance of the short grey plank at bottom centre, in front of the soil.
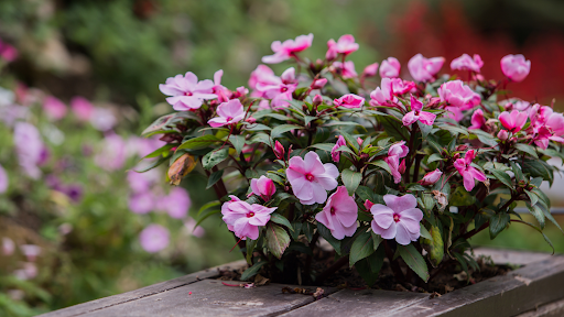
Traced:
POLYGON ((393 316, 398 310, 427 300, 429 294, 380 289, 343 289, 281 316, 393 316))

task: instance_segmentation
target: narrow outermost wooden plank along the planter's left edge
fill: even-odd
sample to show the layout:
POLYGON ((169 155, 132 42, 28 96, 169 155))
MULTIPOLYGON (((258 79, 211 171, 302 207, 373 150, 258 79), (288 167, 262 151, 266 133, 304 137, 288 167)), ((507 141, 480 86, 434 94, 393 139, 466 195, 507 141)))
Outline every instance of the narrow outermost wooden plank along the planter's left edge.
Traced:
POLYGON ((67 308, 63 308, 59 310, 46 313, 46 314, 43 314, 40 316, 41 317, 79 316, 79 315, 83 315, 83 314, 86 314, 89 311, 94 311, 97 309, 101 309, 105 307, 110 307, 110 306, 128 303, 131 300, 137 300, 137 299, 143 298, 143 297, 147 297, 147 296, 151 296, 151 295, 155 295, 155 294, 159 294, 162 292, 171 291, 171 289, 184 286, 184 285, 189 285, 192 283, 195 283, 195 282, 202 280, 202 278, 209 278, 209 277, 218 276, 217 269, 221 269, 221 270, 226 270, 229 267, 236 269, 236 267, 241 267, 243 265, 247 265, 247 262, 245 260, 236 261, 236 262, 231 262, 228 264, 224 264, 224 265, 215 266, 215 267, 207 269, 204 271, 199 271, 196 273, 192 273, 192 274, 188 274, 188 275, 185 275, 185 276, 182 276, 178 278, 174 278, 171 281, 166 281, 166 282, 158 283, 158 284, 147 286, 143 288, 139 288, 135 291, 95 299, 91 302, 87 302, 87 303, 78 304, 75 306, 67 307, 67 308))

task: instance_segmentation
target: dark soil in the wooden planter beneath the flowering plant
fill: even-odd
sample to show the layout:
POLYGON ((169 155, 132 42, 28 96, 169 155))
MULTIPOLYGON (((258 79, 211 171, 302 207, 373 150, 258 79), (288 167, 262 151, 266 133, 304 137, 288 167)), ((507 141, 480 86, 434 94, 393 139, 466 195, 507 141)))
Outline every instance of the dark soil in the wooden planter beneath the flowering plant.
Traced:
MULTIPOLYGON (((340 270, 330 274, 323 283, 313 282, 308 274, 305 274, 307 267, 307 256, 305 254, 292 253, 286 256, 285 264, 294 264, 294 265, 284 265, 284 272, 281 272, 275 266, 264 265, 261 269, 260 273, 256 275, 254 280, 241 282, 240 276, 245 269, 231 270, 231 271, 220 271, 220 276, 218 280, 221 281, 237 281, 236 283, 225 282, 224 284, 227 286, 261 286, 268 284, 269 282, 281 283, 281 284, 294 284, 294 285, 303 285, 303 286, 329 286, 337 288, 349 288, 349 289, 365 289, 365 288, 373 288, 373 289, 386 289, 386 291, 397 291, 397 292, 417 292, 417 293, 430 293, 432 297, 441 296, 448 292, 453 292, 454 289, 458 289, 465 287, 467 285, 476 284, 478 282, 485 281, 487 278, 506 275, 509 271, 514 267, 510 267, 507 265, 495 265, 491 263, 489 259, 486 258, 477 258, 476 261, 479 265, 479 270, 468 270, 469 276, 464 272, 456 261, 449 261, 443 264, 441 271, 435 273, 438 269, 431 270, 431 276, 433 278, 429 283, 424 283, 421 278, 419 278, 415 274, 412 274, 411 278, 406 278, 409 281, 397 281, 393 276, 392 270, 390 267, 388 259, 384 259, 384 263, 382 269, 380 270, 379 277, 372 287, 369 287, 366 282, 360 277, 357 271, 354 267, 348 267, 348 264, 345 264, 340 270), (290 263, 289 263, 290 262, 290 263), (297 265, 295 265, 297 264, 297 265), (300 275, 300 277, 297 277, 300 275), (250 283, 253 283, 250 285, 250 283)), ((400 260, 401 261, 401 260, 400 260)), ((325 251, 321 249, 316 249, 314 252, 314 256, 311 260, 311 271, 313 276, 319 274, 319 272, 325 271, 335 263, 335 252, 334 251, 325 251)), ((402 263, 403 274, 405 275, 404 263, 402 263)), ((312 288, 313 289, 313 288, 312 288)))

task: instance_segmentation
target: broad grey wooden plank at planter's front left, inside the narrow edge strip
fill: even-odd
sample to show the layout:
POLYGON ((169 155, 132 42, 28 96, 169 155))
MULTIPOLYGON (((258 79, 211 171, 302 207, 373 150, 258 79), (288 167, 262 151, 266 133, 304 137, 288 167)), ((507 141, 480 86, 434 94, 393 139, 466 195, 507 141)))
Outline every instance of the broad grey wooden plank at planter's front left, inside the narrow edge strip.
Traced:
POLYGON ((218 280, 203 280, 83 316, 273 316, 314 300, 312 295, 283 294, 283 286, 289 285, 241 288, 225 286, 218 280))

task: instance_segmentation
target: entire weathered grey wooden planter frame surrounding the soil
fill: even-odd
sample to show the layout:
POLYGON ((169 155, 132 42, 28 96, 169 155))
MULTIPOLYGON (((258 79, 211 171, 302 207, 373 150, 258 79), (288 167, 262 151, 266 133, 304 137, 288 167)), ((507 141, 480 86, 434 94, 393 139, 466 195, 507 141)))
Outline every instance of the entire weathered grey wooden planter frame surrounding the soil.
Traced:
MULTIPOLYGON (((316 302, 282 294, 281 284, 246 289, 198 281, 217 276, 217 269, 210 269, 42 316, 564 316, 550 315, 564 309, 557 302, 564 298, 564 256, 495 249, 477 249, 476 254, 525 266, 432 299, 420 293, 325 289, 335 293, 316 302)), ((237 265, 245 262, 231 264, 237 265)))

